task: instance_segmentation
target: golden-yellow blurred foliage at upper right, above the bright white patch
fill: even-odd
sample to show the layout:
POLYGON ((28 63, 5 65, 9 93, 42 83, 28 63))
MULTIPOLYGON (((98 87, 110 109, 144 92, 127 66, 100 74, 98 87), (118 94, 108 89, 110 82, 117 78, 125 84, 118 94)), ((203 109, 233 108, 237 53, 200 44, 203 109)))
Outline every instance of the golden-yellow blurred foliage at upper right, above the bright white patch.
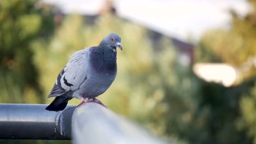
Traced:
POLYGON ((240 76, 237 83, 256 74, 256 1, 249 3, 249 14, 241 17, 230 10, 231 28, 207 31, 196 50, 197 62, 224 62, 236 67, 240 76))

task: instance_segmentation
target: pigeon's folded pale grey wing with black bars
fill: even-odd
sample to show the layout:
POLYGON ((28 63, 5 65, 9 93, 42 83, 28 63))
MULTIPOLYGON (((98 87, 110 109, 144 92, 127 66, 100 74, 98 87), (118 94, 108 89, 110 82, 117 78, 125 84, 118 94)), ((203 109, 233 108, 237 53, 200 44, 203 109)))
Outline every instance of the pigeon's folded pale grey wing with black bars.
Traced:
POLYGON ((80 85, 87 79, 87 69, 89 63, 88 49, 75 52, 67 65, 61 70, 57 77, 55 85, 48 95, 50 97, 58 97, 68 91, 77 90, 80 85))

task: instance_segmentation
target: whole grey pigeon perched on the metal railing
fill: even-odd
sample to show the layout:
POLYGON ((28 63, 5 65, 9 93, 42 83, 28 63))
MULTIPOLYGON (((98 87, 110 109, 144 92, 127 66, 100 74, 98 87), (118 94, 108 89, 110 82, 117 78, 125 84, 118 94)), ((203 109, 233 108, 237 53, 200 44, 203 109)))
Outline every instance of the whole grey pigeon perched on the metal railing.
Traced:
POLYGON ((45 109, 64 110, 72 98, 82 99, 79 105, 94 102, 105 106, 96 97, 107 91, 117 75, 117 47, 123 50, 121 38, 110 33, 98 46, 75 52, 57 76, 48 95, 55 99, 45 109))

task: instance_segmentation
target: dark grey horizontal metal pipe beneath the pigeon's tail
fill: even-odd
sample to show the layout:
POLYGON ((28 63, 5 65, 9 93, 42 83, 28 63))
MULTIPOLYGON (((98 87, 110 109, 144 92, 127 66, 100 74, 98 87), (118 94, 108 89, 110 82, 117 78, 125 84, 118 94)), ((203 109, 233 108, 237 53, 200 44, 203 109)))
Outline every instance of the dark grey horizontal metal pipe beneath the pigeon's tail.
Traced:
POLYGON ((0 104, 0 139, 70 140, 76 106, 47 111, 48 105, 0 104))

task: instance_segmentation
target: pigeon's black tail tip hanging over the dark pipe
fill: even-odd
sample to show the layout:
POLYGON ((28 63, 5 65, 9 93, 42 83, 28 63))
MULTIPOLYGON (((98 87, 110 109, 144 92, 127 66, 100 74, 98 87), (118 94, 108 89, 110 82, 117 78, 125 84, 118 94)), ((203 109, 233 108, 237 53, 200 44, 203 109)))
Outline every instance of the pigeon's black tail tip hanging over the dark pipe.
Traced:
POLYGON ((48 111, 62 111, 67 106, 68 100, 72 98, 63 98, 63 95, 61 97, 55 97, 54 101, 51 102, 49 106, 45 108, 45 110, 48 111))

